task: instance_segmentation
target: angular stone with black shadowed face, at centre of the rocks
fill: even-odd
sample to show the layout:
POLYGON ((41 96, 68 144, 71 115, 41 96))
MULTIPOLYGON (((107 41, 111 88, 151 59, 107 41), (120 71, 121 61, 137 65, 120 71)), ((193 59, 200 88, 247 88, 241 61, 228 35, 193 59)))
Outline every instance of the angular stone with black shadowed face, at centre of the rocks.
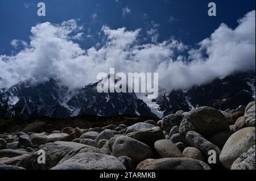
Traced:
POLYGON ((154 147, 156 141, 166 138, 160 127, 141 129, 141 131, 126 134, 126 136, 141 141, 150 147, 154 147))

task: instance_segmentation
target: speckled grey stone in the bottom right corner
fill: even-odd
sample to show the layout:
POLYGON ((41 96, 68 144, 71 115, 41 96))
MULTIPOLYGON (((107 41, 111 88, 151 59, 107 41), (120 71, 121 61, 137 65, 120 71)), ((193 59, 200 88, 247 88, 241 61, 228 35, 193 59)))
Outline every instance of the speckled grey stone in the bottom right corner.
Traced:
POLYGON ((255 145, 234 161, 231 170, 255 170, 255 145))

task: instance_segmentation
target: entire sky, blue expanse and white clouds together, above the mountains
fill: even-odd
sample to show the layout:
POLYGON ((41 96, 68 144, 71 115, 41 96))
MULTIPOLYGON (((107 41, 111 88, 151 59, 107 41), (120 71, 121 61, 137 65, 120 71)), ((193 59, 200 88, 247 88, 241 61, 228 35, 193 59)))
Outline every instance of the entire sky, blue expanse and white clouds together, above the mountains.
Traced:
POLYGON ((0 88, 30 78, 82 87, 115 68, 159 73, 168 92, 255 71, 255 0, 211 1, 44 0, 39 17, 39 1, 1 0, 0 88))

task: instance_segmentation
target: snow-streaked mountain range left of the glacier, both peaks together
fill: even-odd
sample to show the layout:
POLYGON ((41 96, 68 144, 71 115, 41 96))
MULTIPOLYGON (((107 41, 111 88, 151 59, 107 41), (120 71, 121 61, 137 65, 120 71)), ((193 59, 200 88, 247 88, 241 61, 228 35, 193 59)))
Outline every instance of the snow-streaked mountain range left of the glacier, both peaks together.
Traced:
POLYGON ((69 91, 54 79, 38 85, 20 82, 9 89, 0 89, 0 117, 154 115, 134 93, 99 93, 96 88, 94 83, 69 91))

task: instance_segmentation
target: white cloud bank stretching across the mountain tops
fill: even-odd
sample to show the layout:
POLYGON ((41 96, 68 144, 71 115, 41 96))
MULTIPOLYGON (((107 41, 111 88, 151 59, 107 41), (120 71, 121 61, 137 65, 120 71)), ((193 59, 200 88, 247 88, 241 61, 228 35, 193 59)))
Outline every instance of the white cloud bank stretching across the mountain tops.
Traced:
MULTIPOLYGON (((55 78, 72 88, 96 82, 109 72, 157 72, 159 89, 171 91, 202 85, 226 75, 255 70, 255 11, 238 20, 234 30, 221 24, 212 35, 188 48, 175 39, 139 44, 141 29, 127 31, 102 27, 102 47, 82 49, 82 27, 76 20, 49 22, 31 28, 31 41, 13 56, 0 56, 0 88, 32 78, 55 78), (187 51, 189 56, 179 56, 187 51)), ((13 41, 14 46, 16 45, 13 41)), ((19 41, 23 42, 23 41, 19 41)))

